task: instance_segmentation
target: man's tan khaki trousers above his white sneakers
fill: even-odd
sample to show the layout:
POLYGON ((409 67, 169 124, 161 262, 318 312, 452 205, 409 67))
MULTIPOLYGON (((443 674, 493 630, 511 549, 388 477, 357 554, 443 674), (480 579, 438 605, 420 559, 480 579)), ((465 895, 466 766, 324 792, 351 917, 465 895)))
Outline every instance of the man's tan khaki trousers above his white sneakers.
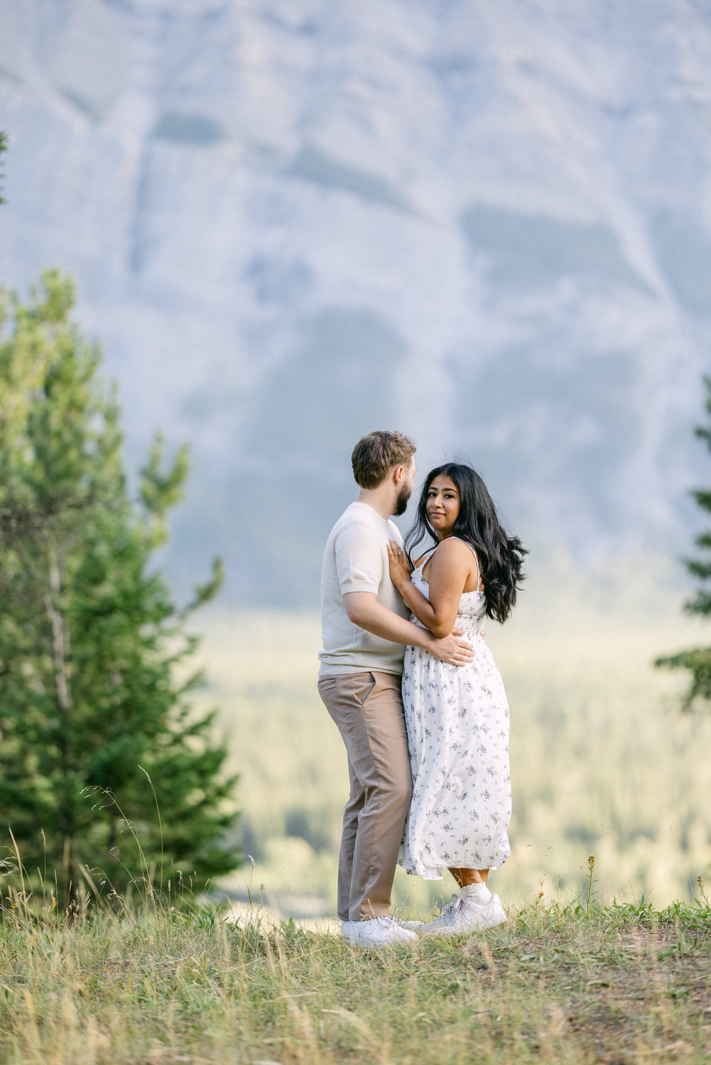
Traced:
POLYGON ((319 694, 349 756, 351 794, 338 864, 342 921, 381 917, 390 894, 413 791, 401 678, 394 673, 324 677, 319 694))

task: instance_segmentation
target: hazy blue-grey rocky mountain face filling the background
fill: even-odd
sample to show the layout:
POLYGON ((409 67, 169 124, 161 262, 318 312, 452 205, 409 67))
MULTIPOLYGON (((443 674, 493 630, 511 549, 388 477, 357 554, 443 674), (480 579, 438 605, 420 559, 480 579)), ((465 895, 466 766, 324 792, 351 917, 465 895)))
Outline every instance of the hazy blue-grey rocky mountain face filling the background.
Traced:
POLYGON ((581 562, 690 546, 711 342, 701 0, 5 0, 0 278, 60 264, 167 564, 312 604, 376 427, 581 562))

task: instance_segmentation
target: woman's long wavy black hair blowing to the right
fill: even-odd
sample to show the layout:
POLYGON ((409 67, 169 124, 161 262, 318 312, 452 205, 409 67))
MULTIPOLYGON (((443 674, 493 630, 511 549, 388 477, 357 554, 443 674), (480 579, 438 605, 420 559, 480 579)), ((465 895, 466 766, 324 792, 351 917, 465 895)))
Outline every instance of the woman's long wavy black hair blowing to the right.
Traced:
POLYGON ((425 537, 437 542, 425 506, 427 492, 435 477, 451 477, 459 492, 459 513, 454 523, 453 536, 470 543, 479 556, 484 581, 486 615, 504 622, 516 603, 516 592, 523 580, 523 555, 528 551, 518 537, 510 537, 497 517, 496 508, 486 485, 471 466, 459 462, 431 470, 424 479, 417 517, 405 537, 405 551, 413 564, 411 551, 425 537))

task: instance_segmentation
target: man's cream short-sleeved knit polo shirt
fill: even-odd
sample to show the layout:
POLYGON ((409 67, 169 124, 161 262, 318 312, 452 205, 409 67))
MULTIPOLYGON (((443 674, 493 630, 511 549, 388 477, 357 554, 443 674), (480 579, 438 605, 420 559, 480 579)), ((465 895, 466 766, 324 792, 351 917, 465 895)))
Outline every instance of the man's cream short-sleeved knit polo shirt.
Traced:
POLYGON ((355 625, 343 606, 346 592, 374 592, 388 610, 409 617, 390 579, 388 540, 402 546, 400 529, 367 503, 352 503, 330 530, 321 568, 320 677, 368 670, 402 673, 404 646, 355 625))

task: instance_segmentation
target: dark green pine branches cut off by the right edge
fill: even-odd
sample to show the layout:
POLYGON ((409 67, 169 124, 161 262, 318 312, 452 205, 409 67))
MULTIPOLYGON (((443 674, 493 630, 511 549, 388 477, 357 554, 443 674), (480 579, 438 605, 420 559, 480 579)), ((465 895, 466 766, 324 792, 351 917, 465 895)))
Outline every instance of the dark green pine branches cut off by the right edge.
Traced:
MULTIPOLYGON (((711 416, 711 377, 705 377, 706 386, 706 410, 711 416)), ((706 441, 711 450, 711 425, 697 426, 694 430, 696 436, 706 441)), ((697 489, 692 496, 702 510, 711 512, 711 491, 708 489, 697 489)), ((693 599, 684 604, 688 613, 700 615, 704 618, 711 616, 711 529, 701 532, 694 541, 696 546, 704 552, 699 558, 686 558, 684 564, 689 572, 700 581, 693 599)), ((691 709, 697 702, 711 702, 711 648, 693 648, 691 651, 680 651, 676 655, 665 658, 658 658, 656 666, 663 666, 668 669, 685 669, 691 673, 689 689, 683 698, 683 709, 691 709)))

